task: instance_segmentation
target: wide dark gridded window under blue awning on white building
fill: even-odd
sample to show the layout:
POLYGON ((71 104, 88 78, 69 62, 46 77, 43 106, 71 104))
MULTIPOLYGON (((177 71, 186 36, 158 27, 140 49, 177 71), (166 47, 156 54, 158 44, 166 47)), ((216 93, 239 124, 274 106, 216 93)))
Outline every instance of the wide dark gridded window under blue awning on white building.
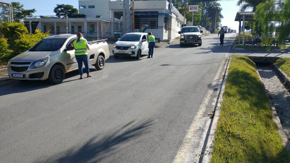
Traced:
MULTIPOLYGON (((158 13, 158 11, 141 11, 135 13, 158 13)), ((158 15, 134 15, 134 29, 141 29, 142 25, 148 29, 158 29, 158 15)))

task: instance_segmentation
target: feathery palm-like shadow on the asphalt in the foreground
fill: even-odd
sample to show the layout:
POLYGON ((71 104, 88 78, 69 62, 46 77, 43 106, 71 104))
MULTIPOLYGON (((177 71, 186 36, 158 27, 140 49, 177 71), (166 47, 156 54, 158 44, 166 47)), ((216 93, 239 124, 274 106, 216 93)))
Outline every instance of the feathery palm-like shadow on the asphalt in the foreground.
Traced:
POLYGON ((110 154, 115 153, 120 149, 120 144, 137 139, 145 133, 150 132, 150 126, 154 125, 153 120, 145 120, 141 122, 131 121, 113 133, 107 134, 103 137, 98 135, 92 137, 84 142, 82 147, 71 147, 60 154, 55 154, 50 158, 40 162, 100 162, 103 159, 110 157, 110 154))

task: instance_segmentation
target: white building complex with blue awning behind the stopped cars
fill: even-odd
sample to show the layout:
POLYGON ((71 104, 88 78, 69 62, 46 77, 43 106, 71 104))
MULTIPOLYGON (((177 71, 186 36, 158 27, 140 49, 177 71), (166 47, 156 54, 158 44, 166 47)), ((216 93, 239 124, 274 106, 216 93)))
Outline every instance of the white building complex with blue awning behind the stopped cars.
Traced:
MULTIPOLYGON (((79 13, 86 18, 30 18, 38 21, 42 32, 64 34, 81 32, 86 37, 114 37, 114 31, 122 29, 123 2, 113 0, 79 0, 79 13)), ((186 19, 167 0, 145 0, 134 2, 134 29, 139 31, 146 24, 145 32, 152 32, 160 41, 179 37, 186 19)))

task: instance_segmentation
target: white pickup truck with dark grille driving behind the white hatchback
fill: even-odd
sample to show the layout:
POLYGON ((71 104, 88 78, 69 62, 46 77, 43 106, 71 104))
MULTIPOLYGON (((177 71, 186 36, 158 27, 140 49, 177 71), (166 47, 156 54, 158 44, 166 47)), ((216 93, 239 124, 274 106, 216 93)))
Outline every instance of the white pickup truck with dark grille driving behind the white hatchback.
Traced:
POLYGON ((183 45, 195 45, 198 44, 198 46, 201 46, 201 33, 203 31, 199 31, 199 28, 197 26, 188 26, 188 27, 182 27, 181 31, 178 31, 180 34, 180 46, 183 45))

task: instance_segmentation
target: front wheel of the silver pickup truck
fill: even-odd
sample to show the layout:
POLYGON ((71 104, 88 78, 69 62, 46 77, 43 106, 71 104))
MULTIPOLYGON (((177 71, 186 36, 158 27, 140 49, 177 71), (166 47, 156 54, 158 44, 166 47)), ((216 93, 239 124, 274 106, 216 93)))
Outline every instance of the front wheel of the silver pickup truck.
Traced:
POLYGON ((63 79, 64 79, 63 67, 58 64, 54 65, 49 72, 49 81, 58 84, 61 83, 63 79))

